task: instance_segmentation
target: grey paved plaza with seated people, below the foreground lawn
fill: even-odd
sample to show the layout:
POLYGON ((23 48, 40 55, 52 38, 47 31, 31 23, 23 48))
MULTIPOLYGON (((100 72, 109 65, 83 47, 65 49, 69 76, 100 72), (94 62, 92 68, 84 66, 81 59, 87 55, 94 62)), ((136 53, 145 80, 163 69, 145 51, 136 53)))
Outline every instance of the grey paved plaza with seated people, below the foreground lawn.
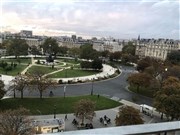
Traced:
MULTIPOLYGON (((133 106, 134 108, 136 108, 138 110, 140 109, 140 106, 138 104, 129 102, 127 100, 122 99, 119 102, 123 103, 124 105, 133 106)), ((114 120, 116 118, 116 115, 119 112, 120 107, 122 107, 122 106, 112 108, 112 109, 107 109, 107 110, 95 111, 96 117, 93 118, 93 121, 91 122, 89 120, 85 120, 85 123, 92 123, 94 128, 115 127, 115 121, 114 120), (107 126, 100 123, 100 121, 99 121, 99 118, 104 117, 104 115, 106 115, 108 118, 111 119, 111 123, 108 124, 107 126)), ((64 119, 65 115, 66 114, 57 114, 56 117, 64 119)), ((147 116, 143 113, 141 113, 141 116, 143 117, 145 124, 156 123, 156 122, 160 121, 160 115, 158 113, 156 113, 153 118, 151 118, 150 116, 147 116)), ((33 118, 33 119, 49 119, 49 118, 52 118, 53 119, 54 115, 31 116, 31 118, 33 118)), ((67 114, 67 118, 68 118, 68 120, 65 121, 65 131, 78 130, 77 127, 72 124, 73 119, 76 118, 74 116, 74 114, 73 113, 67 114)), ((79 119, 77 119, 77 120, 79 121, 79 119)))

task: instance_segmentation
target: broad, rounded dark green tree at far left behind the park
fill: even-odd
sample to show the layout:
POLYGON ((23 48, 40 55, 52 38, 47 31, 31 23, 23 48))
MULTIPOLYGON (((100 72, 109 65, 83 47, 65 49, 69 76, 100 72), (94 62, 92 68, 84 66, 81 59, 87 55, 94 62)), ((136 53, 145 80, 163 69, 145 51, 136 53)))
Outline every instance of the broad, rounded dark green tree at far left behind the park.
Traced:
POLYGON ((14 55, 16 58, 20 55, 28 54, 28 44, 24 39, 10 39, 9 43, 6 46, 7 54, 14 55))

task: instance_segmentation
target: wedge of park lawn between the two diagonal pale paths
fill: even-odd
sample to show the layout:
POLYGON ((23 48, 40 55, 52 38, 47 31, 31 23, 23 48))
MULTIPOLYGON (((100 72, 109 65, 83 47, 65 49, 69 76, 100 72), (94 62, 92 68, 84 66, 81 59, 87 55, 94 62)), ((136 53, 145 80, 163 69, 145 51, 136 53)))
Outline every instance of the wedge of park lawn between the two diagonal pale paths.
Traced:
POLYGON ((47 74, 47 73, 50 73, 50 72, 53 72, 53 71, 56 71, 57 69, 54 68, 52 69, 51 66, 47 66, 47 67, 44 67, 44 66, 32 66, 31 68, 28 69, 28 73, 33 73, 34 71, 41 71, 42 73, 44 74, 47 74))

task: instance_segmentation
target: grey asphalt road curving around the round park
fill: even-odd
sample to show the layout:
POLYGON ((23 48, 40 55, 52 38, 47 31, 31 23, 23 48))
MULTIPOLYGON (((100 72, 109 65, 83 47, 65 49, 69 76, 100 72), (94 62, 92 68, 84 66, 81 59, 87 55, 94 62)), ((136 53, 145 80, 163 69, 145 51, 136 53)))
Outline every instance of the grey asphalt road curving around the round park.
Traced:
MULTIPOLYGON (((137 104, 148 104, 152 105, 152 99, 148 97, 144 97, 141 95, 138 95, 136 93, 130 92, 127 89, 128 83, 126 82, 126 79, 128 75, 135 72, 134 67, 121 67, 122 73, 120 76, 100 81, 100 82, 94 82, 94 83, 86 83, 86 84, 73 84, 73 85, 67 85, 66 87, 66 96, 79 96, 79 95, 87 95, 91 93, 91 90, 93 88, 94 94, 100 94, 108 97, 117 97, 119 99, 125 99, 128 101, 132 101, 132 98, 137 99, 137 104)), ((54 93, 54 96, 64 96, 64 85, 58 86, 55 89, 51 89, 54 93)), ((50 89, 43 94, 43 96, 49 96, 50 89)), ((19 96, 19 94, 17 94, 19 96)), ((37 92, 24 92, 24 96, 39 96, 39 93, 37 92)))

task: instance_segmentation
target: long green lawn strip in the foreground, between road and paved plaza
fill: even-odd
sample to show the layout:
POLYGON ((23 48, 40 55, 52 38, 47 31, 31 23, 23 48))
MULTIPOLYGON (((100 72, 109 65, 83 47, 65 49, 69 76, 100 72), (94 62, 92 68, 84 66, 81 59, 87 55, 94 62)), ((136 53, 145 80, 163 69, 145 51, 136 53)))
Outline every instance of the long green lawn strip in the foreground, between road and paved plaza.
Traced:
POLYGON ((58 98, 12 98, 0 101, 0 110, 17 109, 25 107, 30 110, 31 114, 39 115, 39 111, 43 115, 53 114, 54 105, 56 105, 57 114, 73 113, 74 103, 80 99, 90 99, 96 103, 96 110, 104 110, 120 106, 119 102, 97 95, 94 96, 79 96, 79 97, 58 97, 58 98))

